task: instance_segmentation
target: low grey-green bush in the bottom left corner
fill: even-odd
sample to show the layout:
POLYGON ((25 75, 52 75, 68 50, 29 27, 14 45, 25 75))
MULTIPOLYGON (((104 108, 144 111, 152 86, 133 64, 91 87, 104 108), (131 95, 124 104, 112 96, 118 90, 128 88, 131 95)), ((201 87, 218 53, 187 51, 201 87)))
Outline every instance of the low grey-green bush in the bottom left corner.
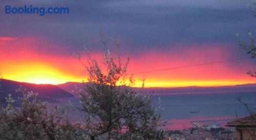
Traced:
POLYGON ((48 110, 48 103, 37 100, 37 94, 18 89, 22 98, 6 98, 7 107, 0 107, 1 139, 70 139, 70 123, 65 114, 68 111, 56 107, 48 110))

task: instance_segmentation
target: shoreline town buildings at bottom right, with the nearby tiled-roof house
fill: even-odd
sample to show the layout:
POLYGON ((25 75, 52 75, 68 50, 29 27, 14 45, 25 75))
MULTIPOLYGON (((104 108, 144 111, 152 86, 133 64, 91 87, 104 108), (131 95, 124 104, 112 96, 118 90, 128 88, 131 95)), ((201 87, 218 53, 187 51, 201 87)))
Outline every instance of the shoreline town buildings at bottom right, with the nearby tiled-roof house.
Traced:
POLYGON ((201 126, 196 122, 191 123, 195 127, 169 131, 169 140, 256 140, 256 114, 228 122, 228 129, 216 125, 201 126))

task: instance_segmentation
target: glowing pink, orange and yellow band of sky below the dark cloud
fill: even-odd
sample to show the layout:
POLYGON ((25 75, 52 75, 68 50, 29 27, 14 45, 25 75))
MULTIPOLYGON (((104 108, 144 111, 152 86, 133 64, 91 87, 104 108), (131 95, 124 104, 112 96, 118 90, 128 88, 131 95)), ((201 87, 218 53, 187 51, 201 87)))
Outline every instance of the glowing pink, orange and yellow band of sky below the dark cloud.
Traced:
MULTIPOLYGON (((78 60, 72 58, 73 52, 67 53, 68 55, 58 54, 56 49, 49 49, 49 46, 56 47, 55 45, 32 37, 0 38, 0 73, 5 79, 37 84, 86 80, 86 69, 78 60), (34 49, 38 44, 41 50, 38 47, 34 49)), ((151 50, 138 56, 131 55, 129 70, 131 73, 137 73, 230 59, 232 55, 226 54, 230 51, 225 50, 225 45, 227 44, 191 44, 186 50, 179 50, 182 45, 176 45, 175 49, 151 50)), ((92 56, 101 58, 100 53, 93 52, 92 56)), ((146 87, 236 85, 256 81, 245 74, 251 67, 246 61, 225 62, 139 74, 134 78, 137 79, 136 86, 140 86, 139 79, 146 77, 146 87)))

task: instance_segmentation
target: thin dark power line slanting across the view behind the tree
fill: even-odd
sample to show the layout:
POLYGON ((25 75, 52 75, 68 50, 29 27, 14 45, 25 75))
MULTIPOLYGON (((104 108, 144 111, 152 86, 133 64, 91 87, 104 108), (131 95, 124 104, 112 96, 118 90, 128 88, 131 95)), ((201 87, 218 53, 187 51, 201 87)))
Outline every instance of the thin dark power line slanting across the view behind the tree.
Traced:
MULTIPOLYGON (((230 62, 230 61, 239 61, 239 60, 243 60, 243 59, 246 59, 246 58, 227 59, 227 60, 221 60, 221 61, 198 63, 198 64, 193 64, 193 65, 185 65, 185 66, 177 66, 177 67, 156 69, 156 70, 153 70, 153 71, 138 72, 138 73, 133 73, 133 74, 129 74, 129 75, 154 73, 154 72, 160 72, 160 71, 167 71, 167 70, 170 70, 170 69, 179 69, 179 68, 194 67, 194 66, 200 66, 200 65, 209 65, 209 64, 216 64, 216 63, 223 63, 223 62, 230 62)), ((83 81, 83 80, 73 81, 73 82, 81 82, 81 81, 83 81)), ((31 89, 31 88, 36 88, 36 87, 44 87, 44 86, 49 86, 49 85, 47 84, 47 85, 31 86, 31 87, 26 87, 26 89, 31 89)), ((2 90, 2 91, 0 91, 0 93, 1 92, 7 92, 7 91, 16 91, 16 89, 2 90)))

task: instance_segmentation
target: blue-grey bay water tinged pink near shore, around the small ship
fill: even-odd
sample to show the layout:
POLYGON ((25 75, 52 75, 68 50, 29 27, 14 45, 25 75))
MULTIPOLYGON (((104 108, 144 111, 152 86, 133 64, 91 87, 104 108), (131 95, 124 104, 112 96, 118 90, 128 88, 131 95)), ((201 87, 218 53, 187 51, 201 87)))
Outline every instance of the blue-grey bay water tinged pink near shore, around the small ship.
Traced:
MULTIPOLYGON (((153 104, 161 99, 163 120, 168 120, 169 129, 183 129, 191 127, 191 121, 216 120, 217 123, 225 125, 226 122, 236 119, 238 116, 248 115, 245 107, 237 100, 241 98, 243 102, 250 106, 256 106, 255 95, 252 92, 244 93, 222 93, 222 94, 191 94, 191 95, 154 95, 153 104), (200 111, 190 113, 190 111, 200 111)), ((60 104, 65 105, 68 102, 79 106, 79 99, 66 98, 60 99, 60 104)), ((50 103, 50 108, 59 105, 59 103, 50 103)), ((77 111, 70 110, 70 116, 76 118, 77 111)))

